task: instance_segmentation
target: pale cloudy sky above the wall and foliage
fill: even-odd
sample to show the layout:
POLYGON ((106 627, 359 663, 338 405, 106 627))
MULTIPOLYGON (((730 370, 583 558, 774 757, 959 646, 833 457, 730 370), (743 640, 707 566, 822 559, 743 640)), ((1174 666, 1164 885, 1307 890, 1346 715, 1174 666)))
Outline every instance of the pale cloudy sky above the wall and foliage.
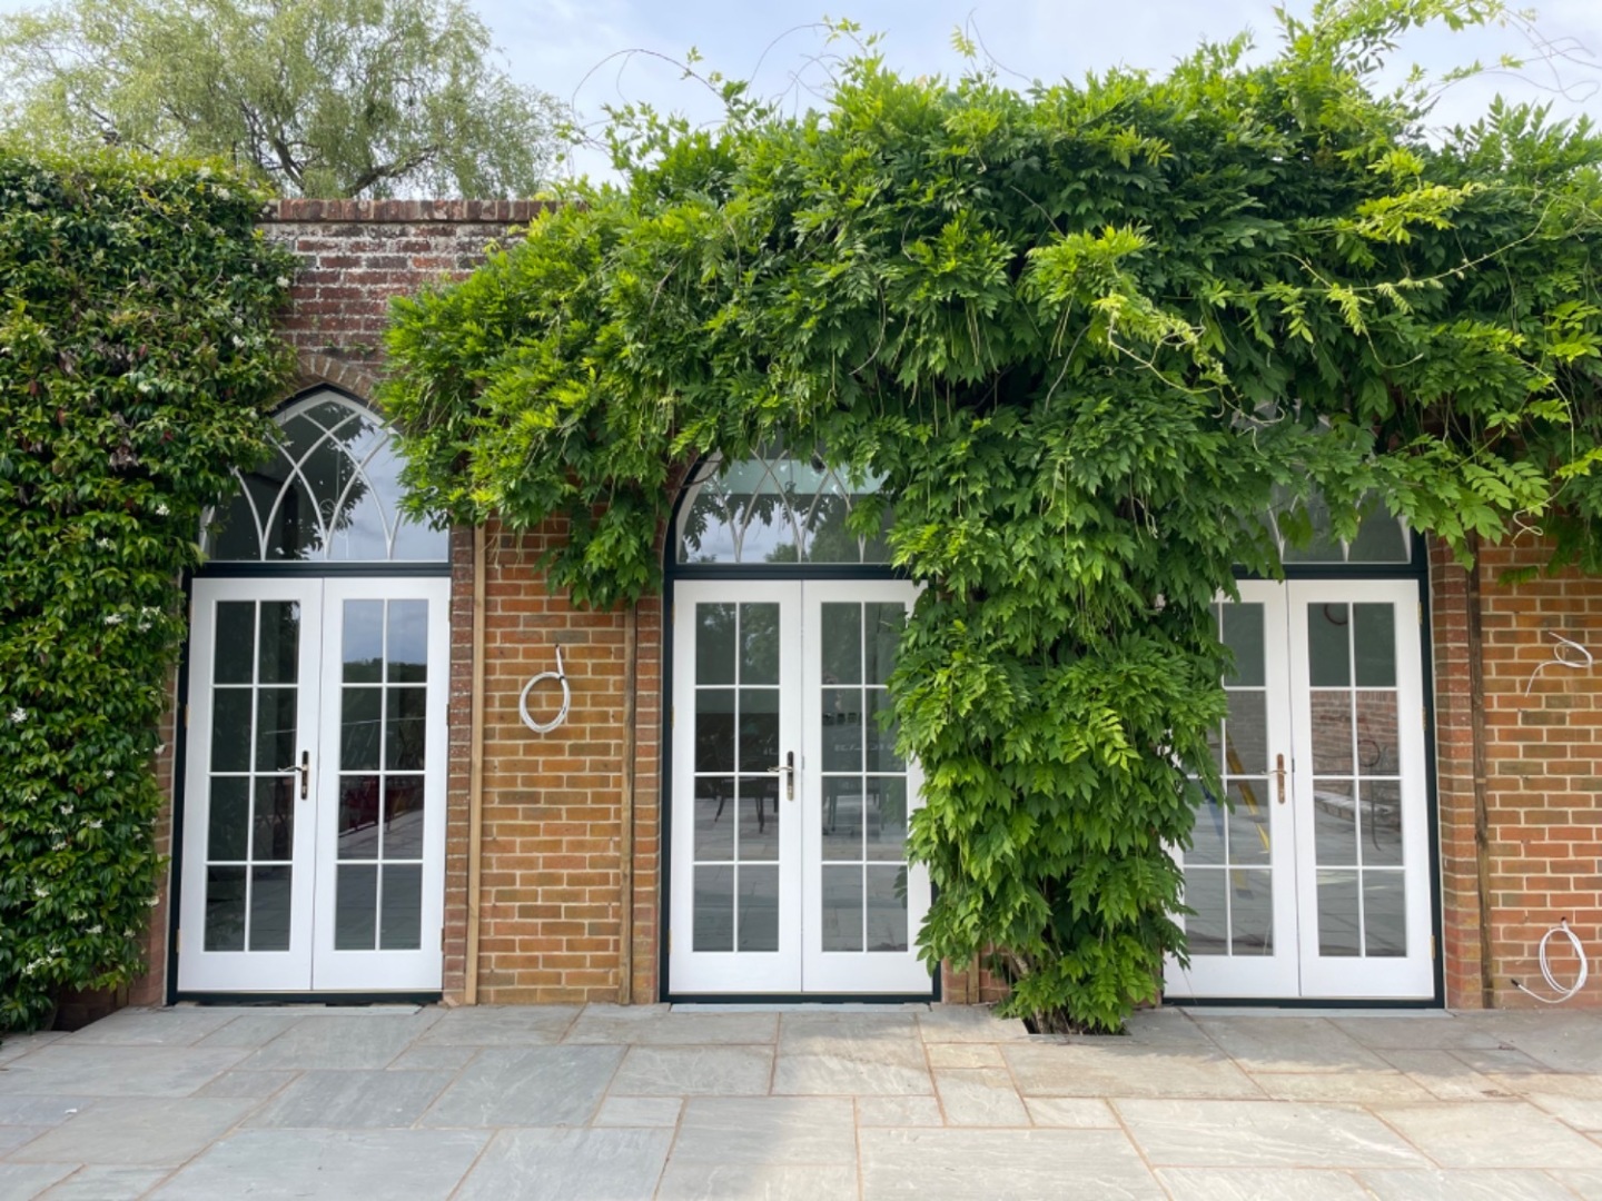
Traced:
MULTIPOLYGON (((1283 2, 1306 13, 1312 0, 1283 2)), ((1456 85, 1437 109, 1442 123, 1483 112, 1496 91, 1520 99, 1549 96, 1564 114, 1588 112, 1602 120, 1602 0, 1535 5, 1538 30, 1568 58, 1530 66, 1524 78, 1495 74, 1456 85)), ((0 0, 0 11, 24 6, 32 0, 0 0)), ((1115 64, 1161 72, 1198 42, 1245 29, 1256 35, 1259 54, 1272 53, 1278 38, 1274 0, 477 0, 477 8, 511 74, 575 102, 586 117, 599 117, 604 104, 633 99, 713 118, 714 106, 682 82, 678 69, 626 54, 652 51, 682 61, 690 46, 703 56, 702 70, 750 78, 756 93, 804 106, 811 99, 806 86, 825 78, 819 56, 835 53, 817 29, 825 13, 881 32, 891 66, 913 75, 960 72, 963 62, 950 38, 953 29, 968 26, 1003 77, 1019 85, 1078 78, 1115 64)), ((1440 70, 1474 59, 1490 62, 1504 51, 1536 56, 1520 30, 1455 35, 1434 27, 1413 34, 1397 58, 1402 66, 1421 62, 1440 70)), ((586 155, 580 165, 594 170, 599 162, 586 155)))

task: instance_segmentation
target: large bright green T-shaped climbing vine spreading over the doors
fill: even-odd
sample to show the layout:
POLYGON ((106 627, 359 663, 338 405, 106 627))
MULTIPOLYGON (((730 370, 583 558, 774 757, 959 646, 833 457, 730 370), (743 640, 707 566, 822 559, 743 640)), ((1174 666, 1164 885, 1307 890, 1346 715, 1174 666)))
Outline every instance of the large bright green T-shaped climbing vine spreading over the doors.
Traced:
POLYGON ((929 584, 891 681, 923 953, 1115 1030, 1182 954, 1211 605, 1278 570, 1272 504, 1306 535, 1317 488, 1341 535, 1384 508, 1459 557, 1538 527, 1602 567, 1602 141, 1506 104, 1426 136, 1427 83, 1375 83, 1408 27, 1503 14, 1320 0, 1267 62, 1237 38, 1025 93, 870 42, 806 115, 739 85, 714 131, 625 110, 622 183, 396 306, 410 482, 567 519, 554 581, 612 605, 658 588, 700 455, 782 436, 881 476, 929 584))

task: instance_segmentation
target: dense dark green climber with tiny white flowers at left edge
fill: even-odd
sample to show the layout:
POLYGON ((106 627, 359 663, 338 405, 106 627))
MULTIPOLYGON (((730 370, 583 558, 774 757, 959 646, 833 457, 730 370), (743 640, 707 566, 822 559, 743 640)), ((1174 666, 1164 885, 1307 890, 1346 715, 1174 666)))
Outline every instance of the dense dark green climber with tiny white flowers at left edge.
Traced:
POLYGON ((0 147, 0 1030, 143 966, 179 575, 292 365, 261 200, 0 147))

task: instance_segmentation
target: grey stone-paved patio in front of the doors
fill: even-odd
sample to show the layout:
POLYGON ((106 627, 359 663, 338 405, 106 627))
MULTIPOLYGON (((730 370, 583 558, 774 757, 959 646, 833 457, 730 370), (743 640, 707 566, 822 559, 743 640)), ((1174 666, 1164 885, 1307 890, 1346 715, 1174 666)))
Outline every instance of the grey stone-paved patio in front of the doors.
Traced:
POLYGON ((125 1010, 0 1046, 0 1198, 1602 1198, 1602 1014, 125 1010))

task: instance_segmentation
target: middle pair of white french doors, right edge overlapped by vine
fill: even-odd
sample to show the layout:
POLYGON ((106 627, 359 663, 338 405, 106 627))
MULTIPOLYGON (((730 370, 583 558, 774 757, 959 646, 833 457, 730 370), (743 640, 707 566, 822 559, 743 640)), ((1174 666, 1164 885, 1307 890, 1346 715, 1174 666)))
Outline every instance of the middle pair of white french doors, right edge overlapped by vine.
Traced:
POLYGON ((668 988, 932 991, 907 863, 923 777, 886 681, 900 581, 681 581, 673 628, 668 988))

